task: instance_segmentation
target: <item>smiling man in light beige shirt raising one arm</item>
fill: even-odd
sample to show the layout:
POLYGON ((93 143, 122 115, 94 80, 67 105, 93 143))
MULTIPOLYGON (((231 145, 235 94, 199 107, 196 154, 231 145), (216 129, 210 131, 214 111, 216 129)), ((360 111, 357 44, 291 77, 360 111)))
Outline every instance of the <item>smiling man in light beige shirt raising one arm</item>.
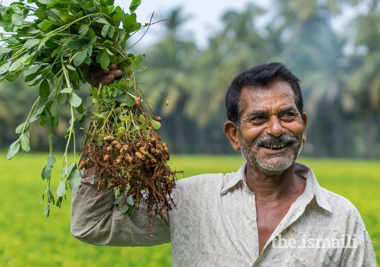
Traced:
POLYGON ((89 170, 73 191, 71 233, 95 245, 171 242, 173 266, 376 266, 355 206, 295 162, 307 125, 299 80, 280 63, 253 67, 232 81, 226 108, 239 171, 179 180, 177 209, 150 239, 144 210, 111 213, 113 191, 96 194, 89 170))

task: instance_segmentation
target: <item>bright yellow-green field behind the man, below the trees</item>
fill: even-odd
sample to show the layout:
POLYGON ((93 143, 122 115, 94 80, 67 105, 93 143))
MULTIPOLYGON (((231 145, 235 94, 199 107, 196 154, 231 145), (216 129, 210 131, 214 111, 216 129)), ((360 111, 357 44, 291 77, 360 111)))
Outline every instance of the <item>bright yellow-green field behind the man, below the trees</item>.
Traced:
MULTIPOLYGON (((1 266, 171 266, 170 244, 153 247, 93 246, 70 235, 70 199, 43 216, 39 205, 45 185, 40 173, 46 154, 24 153, 11 161, 0 153, 0 265, 1 266)), ((53 192, 62 160, 52 172, 53 192)), ((380 243, 380 161, 302 158, 312 167, 321 186, 348 198, 361 213, 371 239, 380 243)), ((170 166, 184 177, 239 169, 240 156, 171 157, 170 166)), ((180 177, 182 178, 182 176, 180 177)), ((71 192, 69 192, 71 195, 71 192)), ((68 196, 69 198, 70 196, 68 196)), ((380 245, 373 244, 380 264, 380 245)))

